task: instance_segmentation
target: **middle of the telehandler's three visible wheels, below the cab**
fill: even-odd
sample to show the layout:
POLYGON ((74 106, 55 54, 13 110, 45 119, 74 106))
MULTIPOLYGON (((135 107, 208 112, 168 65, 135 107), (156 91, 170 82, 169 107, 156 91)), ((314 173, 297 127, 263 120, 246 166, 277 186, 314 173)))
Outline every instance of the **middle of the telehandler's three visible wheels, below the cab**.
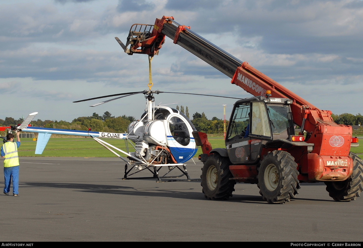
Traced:
POLYGON ((297 164, 290 153, 274 150, 261 161, 257 187, 268 203, 289 202, 300 189, 297 164))

